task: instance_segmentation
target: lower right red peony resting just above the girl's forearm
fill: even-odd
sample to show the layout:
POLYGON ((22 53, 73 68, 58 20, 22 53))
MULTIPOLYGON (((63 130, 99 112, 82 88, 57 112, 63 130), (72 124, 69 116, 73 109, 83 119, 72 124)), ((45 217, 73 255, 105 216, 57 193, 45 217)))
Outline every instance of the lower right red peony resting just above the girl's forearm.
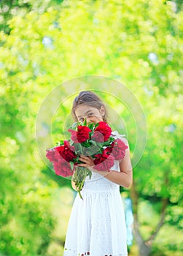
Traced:
POLYGON ((109 170, 114 165, 114 157, 111 154, 107 154, 106 149, 102 154, 96 154, 94 159, 94 169, 96 170, 109 170))

